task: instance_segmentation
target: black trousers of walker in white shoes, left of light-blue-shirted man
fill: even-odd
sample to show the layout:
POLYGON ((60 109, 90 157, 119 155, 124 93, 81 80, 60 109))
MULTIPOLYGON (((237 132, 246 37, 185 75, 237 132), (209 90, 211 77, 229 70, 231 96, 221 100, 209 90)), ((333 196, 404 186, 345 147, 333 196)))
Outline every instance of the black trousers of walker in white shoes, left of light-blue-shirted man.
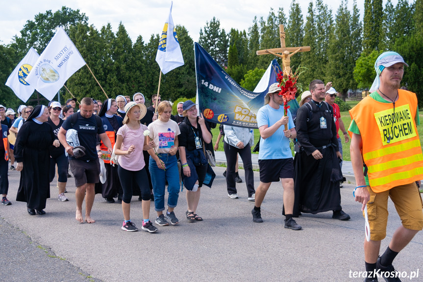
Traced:
POLYGON ((224 154, 226 155, 226 186, 227 186, 227 193, 236 194, 236 187, 235 187, 235 166, 236 166, 236 155, 239 154, 241 156, 244 171, 245 171, 245 182, 247 184, 248 196, 250 197, 252 194, 255 193, 254 189, 254 173, 252 172, 252 163, 251 163, 251 147, 249 144, 245 145, 243 149, 239 149, 238 147, 233 147, 224 142, 223 145, 224 154))

